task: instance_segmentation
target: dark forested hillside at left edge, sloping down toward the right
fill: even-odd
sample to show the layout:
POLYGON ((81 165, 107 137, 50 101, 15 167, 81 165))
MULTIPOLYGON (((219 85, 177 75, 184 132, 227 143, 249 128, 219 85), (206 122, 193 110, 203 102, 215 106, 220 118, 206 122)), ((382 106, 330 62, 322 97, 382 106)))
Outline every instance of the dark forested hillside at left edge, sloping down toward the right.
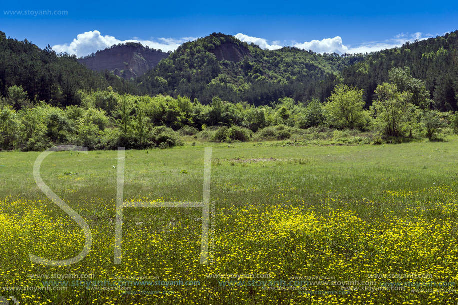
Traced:
POLYGON ((6 38, 0 32, 0 94, 20 85, 31 101, 46 101, 66 106, 81 102, 78 91, 106 89, 138 93, 129 83, 111 73, 93 72, 76 61, 75 56, 57 55, 49 46, 44 50, 24 40, 6 38))

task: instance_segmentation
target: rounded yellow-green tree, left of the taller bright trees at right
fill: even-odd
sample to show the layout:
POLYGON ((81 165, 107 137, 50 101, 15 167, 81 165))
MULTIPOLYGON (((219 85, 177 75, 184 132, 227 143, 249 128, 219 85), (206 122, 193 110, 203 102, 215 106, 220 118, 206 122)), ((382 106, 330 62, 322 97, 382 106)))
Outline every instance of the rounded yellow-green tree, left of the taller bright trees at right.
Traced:
POLYGON ((341 84, 334 88, 324 108, 332 125, 355 128, 365 123, 363 106, 363 90, 341 84))

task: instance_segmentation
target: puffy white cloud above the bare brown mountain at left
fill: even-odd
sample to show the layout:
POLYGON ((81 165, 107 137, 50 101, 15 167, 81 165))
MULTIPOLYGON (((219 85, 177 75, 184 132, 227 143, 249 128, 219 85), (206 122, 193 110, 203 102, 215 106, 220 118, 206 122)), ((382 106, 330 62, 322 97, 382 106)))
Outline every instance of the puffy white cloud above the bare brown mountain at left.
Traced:
POLYGON ((184 37, 181 39, 173 38, 157 38, 154 40, 141 40, 137 37, 128 40, 119 40, 113 36, 101 35, 98 30, 85 32, 76 36, 75 39, 69 44, 56 44, 52 49, 56 52, 67 52, 75 54, 76 56, 85 56, 94 53, 98 50, 103 50, 113 44, 126 43, 126 42, 140 42, 151 48, 161 49, 163 52, 173 51, 177 49, 183 42, 195 40, 194 37, 184 37))

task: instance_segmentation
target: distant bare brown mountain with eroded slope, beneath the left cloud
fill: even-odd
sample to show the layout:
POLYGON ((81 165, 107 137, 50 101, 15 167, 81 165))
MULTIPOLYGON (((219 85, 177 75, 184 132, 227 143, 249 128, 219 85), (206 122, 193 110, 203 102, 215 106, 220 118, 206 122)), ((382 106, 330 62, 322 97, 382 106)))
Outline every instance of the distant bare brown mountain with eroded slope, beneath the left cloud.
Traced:
POLYGON ((93 71, 111 71, 124 79, 138 77, 155 67, 169 54, 150 49, 140 43, 113 45, 95 54, 78 59, 93 71))

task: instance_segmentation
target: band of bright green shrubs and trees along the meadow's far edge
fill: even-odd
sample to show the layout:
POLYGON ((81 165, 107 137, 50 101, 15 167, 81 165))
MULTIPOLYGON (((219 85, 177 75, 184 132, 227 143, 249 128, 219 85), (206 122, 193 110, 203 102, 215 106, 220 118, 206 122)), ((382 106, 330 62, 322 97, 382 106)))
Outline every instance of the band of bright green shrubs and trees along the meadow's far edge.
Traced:
MULTIPOLYGON (((80 105, 52 106, 29 100, 21 86, 11 86, 0 100, 0 148, 43 150, 59 144, 90 149, 172 147, 179 134, 194 135, 211 126, 211 140, 248 141, 271 126, 298 129, 325 126, 374 131, 385 137, 428 137, 449 126, 457 130, 457 114, 432 110, 423 81, 410 69, 393 68, 389 81, 374 90, 365 108, 364 91, 347 84, 335 86, 322 103, 283 97, 270 105, 254 106, 213 97, 210 104, 188 97, 119 94, 113 88, 78 91, 80 105)), ((288 138, 288 135, 282 136, 288 138)))

